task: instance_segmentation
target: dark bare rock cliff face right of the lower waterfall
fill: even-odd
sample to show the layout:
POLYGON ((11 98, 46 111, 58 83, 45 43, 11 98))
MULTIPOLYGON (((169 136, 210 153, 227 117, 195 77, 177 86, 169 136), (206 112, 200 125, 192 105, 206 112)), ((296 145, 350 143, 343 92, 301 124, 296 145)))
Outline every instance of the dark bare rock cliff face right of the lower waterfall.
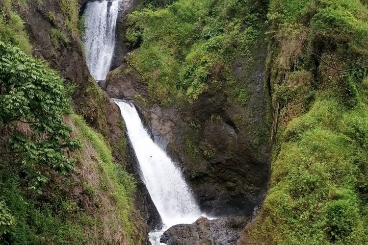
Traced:
POLYGON ((239 89, 247 93, 243 103, 230 95, 232 85, 218 89, 214 78, 207 92, 192 102, 151 102, 152 88, 135 70, 130 54, 106 79, 110 97, 138 105, 155 141, 184 171, 201 209, 214 216, 250 215, 267 188, 270 143, 262 34, 250 52, 237 55, 230 66, 242 84, 239 89))

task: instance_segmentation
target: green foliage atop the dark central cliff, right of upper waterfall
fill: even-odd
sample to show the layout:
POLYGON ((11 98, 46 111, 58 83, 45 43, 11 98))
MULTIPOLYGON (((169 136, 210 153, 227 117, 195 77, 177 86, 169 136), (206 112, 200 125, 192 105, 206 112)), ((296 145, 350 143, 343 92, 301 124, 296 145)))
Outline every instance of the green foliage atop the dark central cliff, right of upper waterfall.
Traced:
POLYGON ((264 6, 249 0, 179 0, 133 12, 127 39, 140 48, 129 63, 148 82, 151 100, 193 101, 210 87, 234 85, 229 95, 244 102, 246 85, 234 78, 232 62, 250 55, 264 25, 264 6))

